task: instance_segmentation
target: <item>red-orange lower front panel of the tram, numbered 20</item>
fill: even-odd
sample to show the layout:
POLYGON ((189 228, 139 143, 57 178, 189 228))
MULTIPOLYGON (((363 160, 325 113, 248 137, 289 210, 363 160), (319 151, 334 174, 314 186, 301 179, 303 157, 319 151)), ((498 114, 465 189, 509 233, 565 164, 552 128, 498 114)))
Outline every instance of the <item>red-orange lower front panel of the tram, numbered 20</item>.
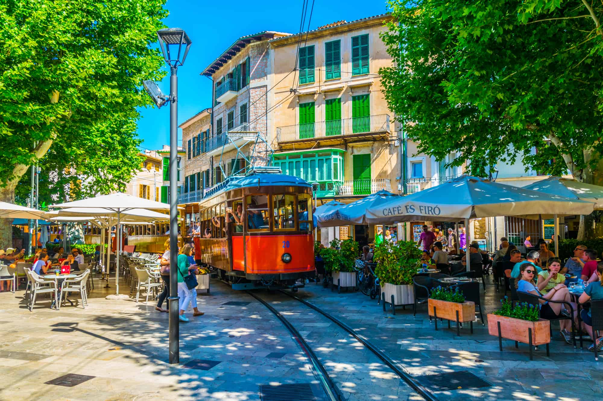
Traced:
POLYGON ((250 235, 245 237, 245 245, 247 274, 314 271, 314 252, 308 252, 314 249, 312 234, 250 235), (283 263, 283 253, 291 253, 291 262, 283 263))

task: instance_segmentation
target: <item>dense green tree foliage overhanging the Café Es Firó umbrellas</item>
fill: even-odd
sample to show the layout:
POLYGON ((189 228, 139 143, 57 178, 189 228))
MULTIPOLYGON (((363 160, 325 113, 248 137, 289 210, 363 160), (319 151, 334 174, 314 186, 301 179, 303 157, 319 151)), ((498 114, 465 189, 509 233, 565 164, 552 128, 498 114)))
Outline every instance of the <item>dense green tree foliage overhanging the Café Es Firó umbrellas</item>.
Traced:
POLYGON ((380 70, 418 151, 601 179, 603 3, 396 0, 380 70), (548 140, 545 142, 545 140, 548 140), (550 146, 549 146, 550 145, 550 146), (531 152, 537 148, 537 153, 531 152))

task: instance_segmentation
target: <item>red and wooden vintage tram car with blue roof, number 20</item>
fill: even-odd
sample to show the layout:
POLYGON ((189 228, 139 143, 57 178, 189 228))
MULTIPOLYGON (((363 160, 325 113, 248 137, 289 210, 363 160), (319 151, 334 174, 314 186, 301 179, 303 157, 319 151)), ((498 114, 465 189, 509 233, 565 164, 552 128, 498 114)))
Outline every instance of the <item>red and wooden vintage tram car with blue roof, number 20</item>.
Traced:
POLYGON ((219 278, 235 290, 295 289, 298 279, 314 276, 308 182, 280 172, 231 176, 206 193, 199 206, 195 258, 218 269, 219 278))

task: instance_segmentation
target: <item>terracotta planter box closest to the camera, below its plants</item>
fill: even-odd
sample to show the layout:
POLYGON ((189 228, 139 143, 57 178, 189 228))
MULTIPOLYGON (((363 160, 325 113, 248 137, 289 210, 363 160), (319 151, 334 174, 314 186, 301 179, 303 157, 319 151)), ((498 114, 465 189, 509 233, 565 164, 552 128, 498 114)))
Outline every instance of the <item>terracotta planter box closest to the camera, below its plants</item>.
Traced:
MULTIPOLYGON (((519 341, 529 344, 529 329, 532 329, 533 346, 548 344, 551 342, 551 322, 545 319, 538 319, 536 322, 528 320, 515 319, 514 317, 498 316, 488 314, 488 333, 498 337, 498 322, 500 322, 500 337, 508 340, 519 341)), ((502 349, 501 349, 502 350, 502 349)))

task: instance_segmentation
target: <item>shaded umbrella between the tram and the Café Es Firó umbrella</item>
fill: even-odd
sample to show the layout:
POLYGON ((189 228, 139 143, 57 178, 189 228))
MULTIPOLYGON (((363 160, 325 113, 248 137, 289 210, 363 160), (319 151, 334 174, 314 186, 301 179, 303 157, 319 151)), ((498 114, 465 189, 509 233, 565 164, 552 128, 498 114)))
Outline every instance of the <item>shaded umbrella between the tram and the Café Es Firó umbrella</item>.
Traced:
MULTIPOLYGON (((319 227, 347 226, 351 224, 366 224, 365 214, 369 208, 379 208, 387 202, 402 198, 400 195, 382 190, 363 197, 359 201, 343 206, 329 208, 326 213, 317 214, 319 227)), ((325 205, 326 206, 326 205, 325 205)), ((318 208, 317 208, 318 211, 318 208)))

